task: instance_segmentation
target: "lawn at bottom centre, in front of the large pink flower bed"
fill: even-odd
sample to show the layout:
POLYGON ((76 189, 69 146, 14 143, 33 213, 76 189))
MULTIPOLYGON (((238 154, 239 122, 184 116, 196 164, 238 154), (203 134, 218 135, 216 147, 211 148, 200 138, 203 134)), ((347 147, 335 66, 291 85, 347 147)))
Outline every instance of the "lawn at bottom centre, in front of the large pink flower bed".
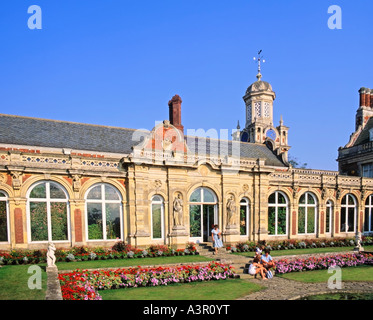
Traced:
POLYGON ((229 279, 160 287, 99 291, 103 300, 234 300, 261 290, 258 284, 229 279))

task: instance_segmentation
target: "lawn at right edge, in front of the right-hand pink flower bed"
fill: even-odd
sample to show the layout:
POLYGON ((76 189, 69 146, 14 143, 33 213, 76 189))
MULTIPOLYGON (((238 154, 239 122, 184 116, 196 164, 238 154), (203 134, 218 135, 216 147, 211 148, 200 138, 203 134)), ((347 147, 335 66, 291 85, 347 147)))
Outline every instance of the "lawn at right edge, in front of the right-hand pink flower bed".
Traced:
MULTIPOLYGON (((373 266, 358 266, 341 268, 342 281, 373 281, 373 266)), ((335 273, 333 273, 335 275, 335 273)), ((328 279, 333 275, 328 273, 328 270, 314 270, 305 272, 290 272, 279 277, 301 281, 301 282, 328 282, 328 279)))

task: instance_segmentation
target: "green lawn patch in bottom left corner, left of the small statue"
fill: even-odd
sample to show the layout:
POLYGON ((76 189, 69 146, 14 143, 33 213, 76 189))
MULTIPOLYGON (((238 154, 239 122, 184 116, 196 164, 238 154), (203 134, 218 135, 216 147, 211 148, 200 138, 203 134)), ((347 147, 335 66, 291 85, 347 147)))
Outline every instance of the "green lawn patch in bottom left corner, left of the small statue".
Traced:
POLYGON ((3 266, 0 268, 0 300, 45 300, 47 274, 42 272, 42 289, 29 289, 28 280, 33 273, 27 273, 30 265, 3 266))

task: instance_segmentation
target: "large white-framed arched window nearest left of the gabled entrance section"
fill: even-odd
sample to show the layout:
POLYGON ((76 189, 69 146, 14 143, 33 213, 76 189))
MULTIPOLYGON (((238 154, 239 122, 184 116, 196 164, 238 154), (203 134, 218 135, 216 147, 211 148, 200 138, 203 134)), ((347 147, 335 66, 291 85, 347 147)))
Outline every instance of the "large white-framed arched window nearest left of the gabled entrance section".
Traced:
POLYGON ((109 184, 96 184, 86 195, 87 240, 122 239, 122 198, 109 184))

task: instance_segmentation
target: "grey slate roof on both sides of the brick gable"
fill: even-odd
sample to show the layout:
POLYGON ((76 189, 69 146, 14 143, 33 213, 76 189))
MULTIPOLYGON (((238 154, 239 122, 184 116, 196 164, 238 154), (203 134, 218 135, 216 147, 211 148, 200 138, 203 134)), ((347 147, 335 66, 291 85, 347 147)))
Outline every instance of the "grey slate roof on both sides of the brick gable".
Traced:
MULTIPOLYGON (((138 139, 133 141, 135 131, 135 129, 0 114, 0 143, 2 144, 129 154, 132 152, 132 146, 141 142, 138 139)), ((149 135, 148 131, 140 132, 140 135, 149 135)), ((185 139, 191 150, 199 151, 198 147, 202 147, 200 154, 203 155, 224 156, 226 150, 229 155, 232 155, 232 152, 236 155, 238 153, 236 148, 239 146, 239 154, 242 158, 263 158, 266 160, 266 165, 285 166, 265 145, 191 136, 186 136, 185 139)))

